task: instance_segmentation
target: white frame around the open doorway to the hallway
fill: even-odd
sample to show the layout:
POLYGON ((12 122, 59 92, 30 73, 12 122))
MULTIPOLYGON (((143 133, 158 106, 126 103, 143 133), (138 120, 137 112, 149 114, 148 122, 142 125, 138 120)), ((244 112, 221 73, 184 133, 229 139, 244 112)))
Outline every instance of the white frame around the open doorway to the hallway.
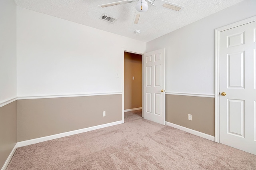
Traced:
MULTIPOLYGON (((140 51, 136 51, 136 50, 134 51, 131 49, 127 49, 126 47, 122 47, 122 123, 124 123, 124 52, 143 55, 143 53, 140 53, 140 51)), ((143 68, 143 60, 142 60, 142 68, 143 68)), ((143 77, 143 69, 142 69, 142 77, 143 77)), ((142 81, 142 96, 143 96, 143 81, 142 81)), ((143 97, 142 97, 142 117, 143 117, 143 97)))

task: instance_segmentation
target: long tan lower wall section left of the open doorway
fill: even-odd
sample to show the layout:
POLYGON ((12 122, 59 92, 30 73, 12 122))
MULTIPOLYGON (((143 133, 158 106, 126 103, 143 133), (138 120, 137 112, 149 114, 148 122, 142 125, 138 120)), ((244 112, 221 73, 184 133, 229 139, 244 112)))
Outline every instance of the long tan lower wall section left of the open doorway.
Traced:
POLYGON ((122 121, 122 95, 18 100, 17 108, 18 142, 122 121))

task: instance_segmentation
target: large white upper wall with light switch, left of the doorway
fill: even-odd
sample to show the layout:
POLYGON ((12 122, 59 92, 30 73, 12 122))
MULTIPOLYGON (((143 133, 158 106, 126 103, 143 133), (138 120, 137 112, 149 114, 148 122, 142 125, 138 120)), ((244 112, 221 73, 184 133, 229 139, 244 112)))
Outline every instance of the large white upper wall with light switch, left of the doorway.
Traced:
POLYGON ((17 7, 18 96, 122 92, 122 47, 146 51, 145 42, 17 7))

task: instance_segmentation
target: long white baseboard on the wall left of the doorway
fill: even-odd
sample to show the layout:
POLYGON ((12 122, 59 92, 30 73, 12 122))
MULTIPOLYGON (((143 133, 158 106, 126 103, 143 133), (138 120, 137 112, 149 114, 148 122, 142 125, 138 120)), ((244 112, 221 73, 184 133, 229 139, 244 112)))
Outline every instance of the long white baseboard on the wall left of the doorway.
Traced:
POLYGON ((73 131, 70 131, 70 132, 64 132, 64 133, 54 134, 54 135, 50 135, 50 136, 44 136, 44 137, 41 137, 41 138, 25 140, 25 141, 22 141, 22 142, 18 142, 17 147, 27 146, 27 145, 30 145, 30 144, 36 144, 36 143, 44 142, 44 141, 47 141, 47 140, 62 138, 62 137, 70 136, 70 135, 73 135, 73 134, 88 132, 88 131, 91 131, 91 130, 96 130, 96 129, 99 129, 99 128, 110 127, 110 126, 119 125, 119 124, 122 124, 122 121, 116 121, 116 122, 112 122, 112 123, 106 123, 104 125, 82 128, 82 129, 73 130, 73 131))

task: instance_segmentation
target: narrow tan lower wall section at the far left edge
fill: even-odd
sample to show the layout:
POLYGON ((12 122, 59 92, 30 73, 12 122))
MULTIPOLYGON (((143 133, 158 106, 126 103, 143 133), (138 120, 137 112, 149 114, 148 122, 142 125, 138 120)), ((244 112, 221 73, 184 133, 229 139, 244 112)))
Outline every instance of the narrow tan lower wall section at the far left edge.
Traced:
POLYGON ((17 143, 17 101, 0 107, 0 168, 17 143))

